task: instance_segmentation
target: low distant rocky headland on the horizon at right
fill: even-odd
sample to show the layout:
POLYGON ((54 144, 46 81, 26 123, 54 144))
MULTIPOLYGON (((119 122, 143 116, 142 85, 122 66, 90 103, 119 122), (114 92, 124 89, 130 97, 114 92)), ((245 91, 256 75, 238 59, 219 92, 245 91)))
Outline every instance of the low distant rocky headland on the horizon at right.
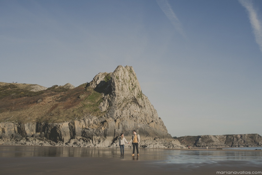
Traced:
POLYGON ((183 145, 193 147, 261 147, 259 134, 200 135, 177 138, 183 145))

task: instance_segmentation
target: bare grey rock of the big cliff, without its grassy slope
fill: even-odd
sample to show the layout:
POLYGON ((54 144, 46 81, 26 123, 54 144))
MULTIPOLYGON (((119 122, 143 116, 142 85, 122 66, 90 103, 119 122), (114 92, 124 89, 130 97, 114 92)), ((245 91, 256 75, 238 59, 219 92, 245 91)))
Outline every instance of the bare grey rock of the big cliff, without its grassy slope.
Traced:
MULTIPOLYGON (((73 88, 70 84, 65 86, 73 88)), ((131 66, 99 73, 86 88, 101 93, 103 101, 97 110, 104 116, 84 115, 63 123, 0 123, 0 144, 116 147, 121 133, 130 140, 136 130, 144 148, 184 148, 168 134, 157 111, 142 93, 131 66)))

